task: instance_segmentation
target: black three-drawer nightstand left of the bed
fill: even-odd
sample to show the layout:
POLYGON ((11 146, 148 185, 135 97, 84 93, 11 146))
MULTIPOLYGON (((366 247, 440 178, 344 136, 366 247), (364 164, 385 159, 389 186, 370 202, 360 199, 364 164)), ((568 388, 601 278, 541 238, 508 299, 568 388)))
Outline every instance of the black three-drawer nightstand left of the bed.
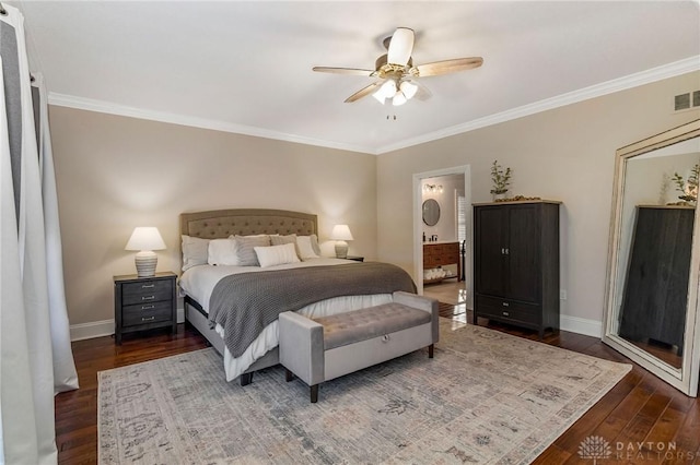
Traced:
POLYGON ((114 276, 115 339, 121 345, 121 335, 135 331, 171 326, 177 331, 175 279, 172 272, 138 277, 135 274, 114 276))

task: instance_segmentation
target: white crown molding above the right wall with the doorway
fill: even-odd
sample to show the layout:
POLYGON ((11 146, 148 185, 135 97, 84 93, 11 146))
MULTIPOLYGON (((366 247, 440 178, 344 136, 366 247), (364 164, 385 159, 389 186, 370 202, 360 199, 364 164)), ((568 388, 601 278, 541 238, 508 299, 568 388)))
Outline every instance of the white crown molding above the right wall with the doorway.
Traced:
POLYGON ((377 148, 376 152, 377 154, 394 152, 400 148, 423 144, 425 142, 436 141, 439 139, 448 138, 451 135, 462 134, 465 132, 474 131, 476 129, 486 128, 488 126, 511 121, 517 118, 523 118, 541 111, 576 104, 579 102, 600 97, 616 92, 626 91, 628 88, 639 87, 640 85, 651 84, 656 81, 675 78, 695 71, 700 71, 700 56, 693 56, 684 60, 675 61, 673 63, 615 79, 612 81, 607 81, 600 84, 592 85, 590 87, 580 88, 578 91, 535 102, 533 104, 523 105, 522 107, 513 108, 500 114, 490 115, 488 117, 478 118, 463 124, 442 129, 440 131, 422 134, 396 144, 385 145, 377 148))

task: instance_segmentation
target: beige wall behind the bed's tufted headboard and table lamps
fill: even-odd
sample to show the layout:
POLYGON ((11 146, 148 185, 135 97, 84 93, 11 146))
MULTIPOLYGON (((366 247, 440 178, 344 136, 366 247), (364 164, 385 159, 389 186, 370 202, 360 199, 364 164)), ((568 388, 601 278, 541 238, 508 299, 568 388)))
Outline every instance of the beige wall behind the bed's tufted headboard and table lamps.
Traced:
POLYGON ((319 238, 350 225, 350 253, 376 258, 376 157, 63 107, 49 109, 71 325, 114 318, 124 247, 156 226, 178 271, 180 212, 283 208, 318 215, 319 238))

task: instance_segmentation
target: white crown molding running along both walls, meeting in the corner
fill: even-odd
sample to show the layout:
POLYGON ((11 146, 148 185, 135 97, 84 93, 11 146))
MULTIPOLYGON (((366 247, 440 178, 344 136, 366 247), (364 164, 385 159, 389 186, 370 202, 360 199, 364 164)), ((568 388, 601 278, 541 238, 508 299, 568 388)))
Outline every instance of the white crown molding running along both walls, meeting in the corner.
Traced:
POLYGON ((451 135, 460 134, 464 132, 474 131, 475 129, 486 128, 488 126, 498 124, 501 122, 510 121, 517 118, 523 118, 529 115, 547 111, 553 108, 563 107, 565 105, 575 104, 579 102, 587 100, 590 98, 600 97, 603 95, 611 94, 619 91, 637 87, 652 82, 661 81, 668 78, 690 73, 693 71, 700 71, 700 56, 693 56, 684 60, 675 61, 673 63, 663 64, 661 67, 652 68, 651 70, 642 71, 639 73, 630 74, 627 76, 618 78, 611 81, 607 81, 600 84, 595 84, 588 87, 584 87, 578 91, 573 91, 567 94, 558 95, 556 97, 546 98, 533 104, 523 105, 522 107, 513 108, 500 114, 490 115, 483 118, 478 118, 472 121, 465 122, 463 124, 445 128, 440 131, 431 132, 428 134, 421 134, 416 138, 407 139, 396 144, 384 145, 382 147, 368 147, 352 144, 345 144, 331 141, 324 141, 319 139, 304 138, 295 134, 287 134, 282 132, 272 131, 269 129, 255 128, 252 126, 235 124, 226 121, 219 121, 213 119, 198 118, 186 115, 171 114, 166 111, 148 110, 136 107, 128 107, 118 105, 112 102, 97 100, 93 98, 77 97, 67 94, 57 94, 50 92, 48 94, 48 103, 59 107, 77 108, 80 110, 97 111, 103 114, 119 115, 131 118, 139 118, 145 120, 161 121, 173 124, 189 126, 194 128, 211 129, 214 131, 232 132, 235 134, 246 134, 264 139, 275 139, 279 141, 294 142, 306 145, 315 145, 328 148, 337 148, 341 151, 359 152, 371 155, 381 155, 387 152, 397 151, 399 148, 406 148, 425 142, 435 141, 439 139, 447 138, 451 135))

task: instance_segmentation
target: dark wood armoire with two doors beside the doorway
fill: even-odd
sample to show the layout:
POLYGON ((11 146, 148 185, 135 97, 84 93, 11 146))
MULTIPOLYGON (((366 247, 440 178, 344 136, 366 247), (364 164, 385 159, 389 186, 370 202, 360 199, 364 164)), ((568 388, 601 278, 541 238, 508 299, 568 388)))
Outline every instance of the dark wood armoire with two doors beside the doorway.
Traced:
POLYGON ((474 205, 474 323, 479 317, 539 332, 559 329, 559 206, 474 205))

